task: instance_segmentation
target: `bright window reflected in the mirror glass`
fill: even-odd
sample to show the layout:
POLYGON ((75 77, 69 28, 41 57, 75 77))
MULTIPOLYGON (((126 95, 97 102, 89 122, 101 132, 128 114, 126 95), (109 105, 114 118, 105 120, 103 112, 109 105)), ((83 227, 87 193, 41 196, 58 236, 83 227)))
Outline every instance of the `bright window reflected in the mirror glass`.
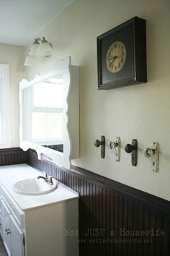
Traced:
POLYGON ((59 79, 34 85, 32 140, 63 140, 63 81, 59 79))

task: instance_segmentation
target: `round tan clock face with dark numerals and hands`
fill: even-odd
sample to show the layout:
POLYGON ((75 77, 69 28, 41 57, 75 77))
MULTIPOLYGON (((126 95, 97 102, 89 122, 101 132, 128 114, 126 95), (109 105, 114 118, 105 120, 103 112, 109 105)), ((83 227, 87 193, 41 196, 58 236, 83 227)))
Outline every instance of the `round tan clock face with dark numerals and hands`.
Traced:
POLYGON ((126 48, 121 41, 115 41, 109 46, 106 56, 106 66, 109 72, 120 72, 126 61, 126 48))

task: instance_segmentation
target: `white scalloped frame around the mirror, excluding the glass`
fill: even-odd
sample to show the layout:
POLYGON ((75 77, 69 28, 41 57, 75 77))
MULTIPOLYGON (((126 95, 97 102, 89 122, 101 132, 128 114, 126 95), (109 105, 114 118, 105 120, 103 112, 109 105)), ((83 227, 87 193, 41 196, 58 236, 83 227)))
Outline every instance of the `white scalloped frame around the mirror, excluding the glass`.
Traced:
POLYGON ((70 168, 71 159, 79 158, 79 67, 71 65, 71 58, 58 59, 53 69, 35 79, 19 82, 19 147, 24 151, 33 149, 38 158, 47 155, 47 158, 60 167, 70 168), (63 106, 63 153, 37 145, 34 142, 24 140, 24 110, 23 90, 42 82, 50 77, 63 73, 64 80, 64 106, 63 106))

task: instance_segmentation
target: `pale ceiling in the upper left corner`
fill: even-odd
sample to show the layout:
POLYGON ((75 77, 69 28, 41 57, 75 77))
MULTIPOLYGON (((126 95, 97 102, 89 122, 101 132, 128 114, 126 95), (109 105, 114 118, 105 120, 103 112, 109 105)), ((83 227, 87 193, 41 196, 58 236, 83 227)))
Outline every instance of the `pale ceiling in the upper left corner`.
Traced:
POLYGON ((27 46, 73 0, 0 0, 0 43, 27 46))

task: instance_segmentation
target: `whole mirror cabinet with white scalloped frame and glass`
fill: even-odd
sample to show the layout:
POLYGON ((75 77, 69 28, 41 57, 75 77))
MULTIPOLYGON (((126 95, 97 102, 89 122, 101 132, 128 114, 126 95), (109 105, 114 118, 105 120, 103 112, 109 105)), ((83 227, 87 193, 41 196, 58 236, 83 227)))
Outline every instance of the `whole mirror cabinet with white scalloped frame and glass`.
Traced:
POLYGON ((19 82, 20 148, 65 168, 79 157, 79 68, 70 62, 60 59, 49 72, 19 82))

